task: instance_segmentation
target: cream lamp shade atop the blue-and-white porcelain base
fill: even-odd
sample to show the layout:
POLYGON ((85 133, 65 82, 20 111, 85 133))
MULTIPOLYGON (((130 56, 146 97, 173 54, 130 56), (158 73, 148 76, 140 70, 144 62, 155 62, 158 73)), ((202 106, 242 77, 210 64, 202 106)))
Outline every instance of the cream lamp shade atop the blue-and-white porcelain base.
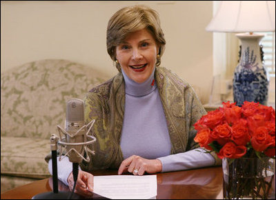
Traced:
POLYGON ((221 1, 206 27, 211 32, 275 31, 275 1, 221 1))

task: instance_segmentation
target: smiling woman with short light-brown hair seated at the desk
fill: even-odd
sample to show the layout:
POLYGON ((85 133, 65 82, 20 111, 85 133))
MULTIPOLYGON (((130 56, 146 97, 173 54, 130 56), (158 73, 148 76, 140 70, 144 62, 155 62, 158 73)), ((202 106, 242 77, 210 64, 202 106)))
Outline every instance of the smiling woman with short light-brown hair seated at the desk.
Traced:
MULTIPOLYGON (((84 99, 97 142, 90 163, 80 165, 77 193, 90 194, 92 170, 143 175, 220 164, 193 141, 193 124, 206 111, 186 81, 159 66, 165 44, 158 14, 146 6, 122 8, 108 22, 108 54, 119 73, 84 99)), ((59 179, 72 190, 70 170, 59 179)))

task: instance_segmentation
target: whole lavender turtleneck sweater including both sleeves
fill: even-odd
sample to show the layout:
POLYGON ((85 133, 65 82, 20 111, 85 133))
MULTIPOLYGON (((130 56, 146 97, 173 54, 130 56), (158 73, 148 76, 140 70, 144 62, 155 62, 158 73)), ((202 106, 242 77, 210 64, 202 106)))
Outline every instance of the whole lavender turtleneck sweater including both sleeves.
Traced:
MULTIPOLYGON (((156 84, 152 86, 155 70, 144 83, 129 79, 122 70, 126 83, 126 104, 121 132, 121 151, 124 159, 133 154, 145 159, 159 159, 162 172, 188 170, 213 166, 215 159, 211 154, 197 148, 179 154, 170 154, 171 143, 166 117, 156 84)), ((96 152, 97 153, 97 152, 96 152)), ((72 163, 68 157, 57 161, 58 178, 68 186, 68 176, 72 163)), ((52 174, 52 159, 48 163, 52 174)))

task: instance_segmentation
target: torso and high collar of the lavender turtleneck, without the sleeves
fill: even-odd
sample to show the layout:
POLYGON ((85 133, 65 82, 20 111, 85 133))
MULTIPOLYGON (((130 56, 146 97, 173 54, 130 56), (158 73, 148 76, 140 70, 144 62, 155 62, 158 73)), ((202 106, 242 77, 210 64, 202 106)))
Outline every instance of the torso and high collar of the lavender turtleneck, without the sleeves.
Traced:
POLYGON ((129 79, 126 83, 126 104, 121 132, 121 151, 124 159, 133 154, 145 159, 168 156, 171 145, 166 117, 156 84, 152 86, 155 70, 144 83, 129 79))

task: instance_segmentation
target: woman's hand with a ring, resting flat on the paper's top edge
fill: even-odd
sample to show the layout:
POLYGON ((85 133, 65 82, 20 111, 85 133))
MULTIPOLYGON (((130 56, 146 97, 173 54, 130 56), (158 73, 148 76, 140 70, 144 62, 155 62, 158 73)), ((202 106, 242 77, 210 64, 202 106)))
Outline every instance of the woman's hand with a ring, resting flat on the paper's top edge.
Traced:
POLYGON ((158 159, 149 160, 133 155, 121 162, 118 174, 120 175, 123 172, 128 171, 132 174, 141 176, 145 172, 147 172, 148 174, 154 174, 157 172, 161 172, 161 170, 162 163, 158 159))

